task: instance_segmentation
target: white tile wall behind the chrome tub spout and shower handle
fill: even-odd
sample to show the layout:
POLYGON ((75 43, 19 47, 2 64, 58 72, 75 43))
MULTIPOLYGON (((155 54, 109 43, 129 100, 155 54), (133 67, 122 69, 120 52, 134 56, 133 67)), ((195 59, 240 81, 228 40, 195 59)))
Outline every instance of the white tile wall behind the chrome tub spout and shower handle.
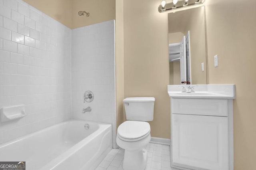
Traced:
POLYGON ((72 30, 72 113, 74 119, 112 123, 116 147, 114 20, 72 30), (84 103, 84 92, 94 100, 84 103), (91 112, 82 113, 86 107, 91 112))

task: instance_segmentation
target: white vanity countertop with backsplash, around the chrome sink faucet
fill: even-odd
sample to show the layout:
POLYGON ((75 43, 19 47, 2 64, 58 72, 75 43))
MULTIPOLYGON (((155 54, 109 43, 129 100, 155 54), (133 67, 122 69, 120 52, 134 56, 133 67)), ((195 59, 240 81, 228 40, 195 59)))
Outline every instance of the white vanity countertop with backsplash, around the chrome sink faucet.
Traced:
POLYGON ((171 98, 198 98, 198 99, 235 99, 235 85, 207 84, 196 85, 195 93, 182 93, 182 87, 186 89, 195 85, 168 85, 168 95, 171 98))

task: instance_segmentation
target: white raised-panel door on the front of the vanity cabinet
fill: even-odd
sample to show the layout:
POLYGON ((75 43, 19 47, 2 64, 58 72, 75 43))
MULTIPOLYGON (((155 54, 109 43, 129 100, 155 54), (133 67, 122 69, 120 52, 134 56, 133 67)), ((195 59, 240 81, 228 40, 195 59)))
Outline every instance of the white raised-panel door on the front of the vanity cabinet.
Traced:
POLYGON ((228 117, 173 114, 172 162, 228 170, 228 117))

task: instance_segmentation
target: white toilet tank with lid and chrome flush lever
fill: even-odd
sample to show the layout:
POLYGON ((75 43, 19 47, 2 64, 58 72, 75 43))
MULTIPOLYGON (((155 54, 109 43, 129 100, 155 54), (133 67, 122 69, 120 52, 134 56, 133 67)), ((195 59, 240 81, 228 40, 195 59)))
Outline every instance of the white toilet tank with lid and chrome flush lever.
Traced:
POLYGON ((153 121, 154 97, 128 97, 123 103, 127 120, 153 121))

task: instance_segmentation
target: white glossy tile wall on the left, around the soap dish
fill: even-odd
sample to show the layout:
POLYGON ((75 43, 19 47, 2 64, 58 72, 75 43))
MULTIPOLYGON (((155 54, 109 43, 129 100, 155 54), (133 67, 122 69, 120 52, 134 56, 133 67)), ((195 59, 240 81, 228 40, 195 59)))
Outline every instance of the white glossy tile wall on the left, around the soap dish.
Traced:
POLYGON ((24 104, 27 114, 0 122, 0 143, 71 118, 70 62, 69 28, 22 0, 0 0, 0 108, 24 104))

